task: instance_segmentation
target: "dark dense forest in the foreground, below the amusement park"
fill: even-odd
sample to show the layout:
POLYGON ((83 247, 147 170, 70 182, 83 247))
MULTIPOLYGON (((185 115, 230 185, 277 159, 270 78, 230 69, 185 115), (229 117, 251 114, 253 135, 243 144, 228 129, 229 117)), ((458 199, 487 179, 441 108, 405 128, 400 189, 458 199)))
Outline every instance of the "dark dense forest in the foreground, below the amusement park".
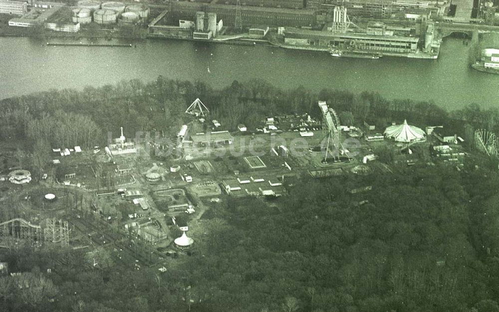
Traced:
POLYGON ((496 173, 469 163, 295 182, 275 206, 214 205, 193 255, 162 274, 13 248, 4 260, 41 286, 0 278, 2 311, 499 311, 496 173))

